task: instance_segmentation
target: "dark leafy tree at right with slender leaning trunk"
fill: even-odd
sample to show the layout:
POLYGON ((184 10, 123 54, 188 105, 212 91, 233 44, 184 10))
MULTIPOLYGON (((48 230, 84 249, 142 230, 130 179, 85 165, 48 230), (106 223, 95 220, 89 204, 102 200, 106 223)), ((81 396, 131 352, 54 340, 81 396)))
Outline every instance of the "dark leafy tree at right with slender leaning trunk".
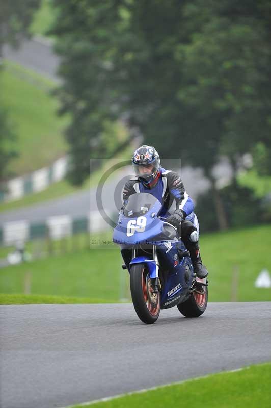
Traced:
POLYGON ((216 214, 225 227, 213 164, 220 155, 229 158, 234 188, 240 157, 259 141, 267 145, 270 140, 270 2, 204 3, 205 13, 199 13, 201 1, 185 10, 197 30, 178 49, 183 78, 179 98, 191 108, 193 132, 201 134, 189 159, 200 162, 211 181, 216 214))

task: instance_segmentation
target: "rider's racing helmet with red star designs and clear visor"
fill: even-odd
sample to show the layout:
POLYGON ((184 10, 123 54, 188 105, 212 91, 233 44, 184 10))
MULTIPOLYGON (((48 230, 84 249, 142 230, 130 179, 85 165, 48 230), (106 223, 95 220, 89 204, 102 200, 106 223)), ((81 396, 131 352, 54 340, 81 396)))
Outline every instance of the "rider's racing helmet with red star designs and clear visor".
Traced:
POLYGON ((154 147, 144 144, 134 151, 132 167, 144 186, 156 186, 161 174, 160 166, 160 158, 154 147))

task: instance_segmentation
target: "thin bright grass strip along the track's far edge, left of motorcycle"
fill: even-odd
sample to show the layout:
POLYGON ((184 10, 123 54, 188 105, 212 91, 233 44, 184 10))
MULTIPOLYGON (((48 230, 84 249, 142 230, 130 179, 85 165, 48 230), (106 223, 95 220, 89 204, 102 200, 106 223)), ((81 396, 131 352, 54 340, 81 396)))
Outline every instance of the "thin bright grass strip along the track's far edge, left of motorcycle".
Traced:
MULTIPOLYGON (((73 303, 107 303, 105 299, 93 299, 88 297, 66 297, 49 295, 23 295, 16 293, 0 294, 0 304, 73 304, 73 303)), ((113 301, 111 301, 113 303, 113 301)))

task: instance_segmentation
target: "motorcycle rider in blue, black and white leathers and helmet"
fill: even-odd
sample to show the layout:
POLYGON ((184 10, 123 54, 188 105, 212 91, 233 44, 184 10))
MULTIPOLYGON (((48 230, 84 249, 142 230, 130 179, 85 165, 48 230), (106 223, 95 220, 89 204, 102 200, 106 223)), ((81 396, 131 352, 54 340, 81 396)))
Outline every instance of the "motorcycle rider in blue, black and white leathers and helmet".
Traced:
POLYGON ((132 156, 132 167, 136 177, 128 180, 123 189, 123 202, 135 193, 150 193, 162 204, 159 215, 177 228, 190 252, 194 271, 199 278, 208 275, 202 264, 199 247, 199 223, 194 213, 194 203, 185 191, 181 177, 172 170, 161 167, 158 152, 154 147, 142 145, 132 156))

